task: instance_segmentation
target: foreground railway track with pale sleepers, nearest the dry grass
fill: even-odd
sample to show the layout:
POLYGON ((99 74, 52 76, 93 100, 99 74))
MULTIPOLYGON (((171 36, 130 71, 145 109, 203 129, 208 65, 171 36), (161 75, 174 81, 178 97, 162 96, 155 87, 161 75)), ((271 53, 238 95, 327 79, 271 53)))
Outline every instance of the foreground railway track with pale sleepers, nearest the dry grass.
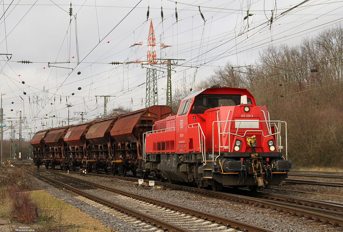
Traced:
POLYGON ((36 173, 40 178, 79 194, 76 198, 81 201, 98 207, 113 216, 122 218, 124 221, 132 223, 142 230, 158 232, 166 230, 174 232, 190 232, 194 230, 204 232, 274 232, 256 225, 117 190, 56 171, 30 171, 36 173), (52 176, 55 177, 51 178, 52 176), (77 184, 74 181, 78 182, 78 184, 81 183, 84 190, 75 188, 74 186, 77 184), (72 184, 74 186, 71 186, 72 184), (90 190, 97 192, 97 195, 90 193, 90 190), (106 196, 99 197, 99 194, 106 196), (155 228, 153 229, 153 227, 155 228))

